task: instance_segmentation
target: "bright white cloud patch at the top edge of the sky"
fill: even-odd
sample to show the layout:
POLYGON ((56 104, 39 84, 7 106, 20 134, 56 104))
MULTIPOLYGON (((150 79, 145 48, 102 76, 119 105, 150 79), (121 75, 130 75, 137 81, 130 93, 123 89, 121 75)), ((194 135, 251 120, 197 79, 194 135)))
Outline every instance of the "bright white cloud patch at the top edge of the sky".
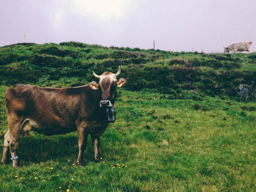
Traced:
POLYGON ((122 0, 73 0, 74 11, 81 15, 94 14, 101 19, 125 16, 130 1, 122 0))

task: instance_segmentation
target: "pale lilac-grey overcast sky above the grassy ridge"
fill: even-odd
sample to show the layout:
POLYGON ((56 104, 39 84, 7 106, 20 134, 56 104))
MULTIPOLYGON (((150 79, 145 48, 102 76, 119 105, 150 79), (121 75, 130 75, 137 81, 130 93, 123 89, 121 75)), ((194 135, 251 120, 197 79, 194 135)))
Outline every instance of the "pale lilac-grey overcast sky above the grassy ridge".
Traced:
POLYGON ((77 41, 167 51, 223 52, 253 42, 255 0, 0 0, 0 46, 77 41))

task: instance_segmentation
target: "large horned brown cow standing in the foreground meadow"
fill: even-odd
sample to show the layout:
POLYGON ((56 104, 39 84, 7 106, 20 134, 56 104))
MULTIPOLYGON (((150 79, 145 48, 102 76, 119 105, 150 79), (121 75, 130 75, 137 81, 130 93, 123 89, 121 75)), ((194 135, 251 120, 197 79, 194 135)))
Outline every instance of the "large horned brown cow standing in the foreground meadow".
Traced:
POLYGON ((5 92, 5 107, 9 130, 4 137, 2 163, 6 163, 9 149, 13 167, 20 167, 18 146, 21 134, 33 130, 44 135, 78 131, 79 154, 77 164, 84 165, 84 151, 88 134, 91 135, 95 160, 101 161, 99 137, 106 130, 106 108, 115 103, 117 87, 127 83, 120 74, 105 72, 93 75, 99 83, 66 88, 43 88, 16 84, 5 92))

